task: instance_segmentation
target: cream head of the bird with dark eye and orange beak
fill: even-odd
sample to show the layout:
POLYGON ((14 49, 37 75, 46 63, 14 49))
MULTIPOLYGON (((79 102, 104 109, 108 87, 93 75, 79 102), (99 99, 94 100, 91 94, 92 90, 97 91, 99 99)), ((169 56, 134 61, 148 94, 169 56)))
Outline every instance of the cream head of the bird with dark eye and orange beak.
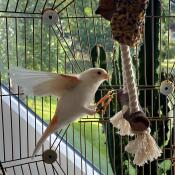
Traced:
POLYGON ((109 74, 102 68, 90 68, 80 74, 80 79, 89 82, 103 82, 109 79, 109 74))

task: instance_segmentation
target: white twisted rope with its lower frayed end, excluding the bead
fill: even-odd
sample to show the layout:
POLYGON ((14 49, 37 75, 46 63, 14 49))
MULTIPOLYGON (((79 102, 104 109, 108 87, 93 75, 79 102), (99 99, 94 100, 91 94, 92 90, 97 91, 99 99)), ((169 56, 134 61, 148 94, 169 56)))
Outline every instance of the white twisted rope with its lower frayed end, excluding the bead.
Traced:
MULTIPOLYGON (((130 48, 127 45, 121 45, 120 47, 129 96, 129 109, 130 113, 135 113, 139 111, 139 100, 134 81, 130 48)), ((150 135, 150 128, 141 133, 136 133, 135 140, 130 141, 125 150, 134 155, 134 163, 138 166, 143 166, 147 161, 157 159, 162 152, 154 138, 150 135)))

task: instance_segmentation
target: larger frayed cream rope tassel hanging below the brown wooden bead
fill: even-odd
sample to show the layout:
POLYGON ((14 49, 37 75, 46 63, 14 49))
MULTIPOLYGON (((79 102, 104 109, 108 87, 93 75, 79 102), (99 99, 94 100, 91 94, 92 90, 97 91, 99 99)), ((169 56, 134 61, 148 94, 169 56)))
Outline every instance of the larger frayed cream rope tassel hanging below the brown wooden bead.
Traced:
POLYGON ((148 161, 153 161, 161 156, 162 150, 150 135, 150 128, 145 132, 137 133, 135 140, 126 145, 125 151, 134 155, 133 163, 143 166, 148 161))

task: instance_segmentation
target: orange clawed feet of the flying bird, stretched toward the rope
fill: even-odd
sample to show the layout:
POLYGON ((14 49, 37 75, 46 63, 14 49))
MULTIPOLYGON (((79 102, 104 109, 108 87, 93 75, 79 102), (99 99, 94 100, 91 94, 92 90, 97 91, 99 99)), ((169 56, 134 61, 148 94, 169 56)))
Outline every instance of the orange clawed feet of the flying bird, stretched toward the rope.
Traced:
POLYGON ((114 94, 115 94, 114 90, 108 91, 108 93, 96 103, 96 106, 97 106, 96 112, 97 113, 100 111, 103 111, 103 113, 106 112, 107 107, 109 106, 110 102, 112 101, 114 94), (100 104, 101 104, 101 106, 98 107, 100 104))

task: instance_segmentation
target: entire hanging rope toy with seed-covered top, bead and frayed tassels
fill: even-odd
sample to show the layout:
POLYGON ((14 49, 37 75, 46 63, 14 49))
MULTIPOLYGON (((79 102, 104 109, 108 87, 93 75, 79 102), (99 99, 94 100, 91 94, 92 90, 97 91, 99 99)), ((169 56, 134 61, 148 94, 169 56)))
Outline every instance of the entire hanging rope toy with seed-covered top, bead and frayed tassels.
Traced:
MULTIPOLYGON (((108 0, 101 0, 100 6, 107 2, 108 0)), ((135 140, 129 141, 125 150, 133 154, 133 162, 138 166, 157 159, 162 153, 150 135, 149 120, 139 104, 130 56, 130 46, 138 45, 143 38, 147 4, 148 0, 110 0, 108 8, 115 8, 115 11, 109 12, 107 19, 111 22, 113 38, 120 43, 124 84, 122 91, 117 93, 118 100, 123 106, 122 110, 116 113, 110 122, 119 129, 119 134, 135 135, 135 140)), ((98 14, 105 19, 106 13, 104 9, 98 10, 98 14)))

